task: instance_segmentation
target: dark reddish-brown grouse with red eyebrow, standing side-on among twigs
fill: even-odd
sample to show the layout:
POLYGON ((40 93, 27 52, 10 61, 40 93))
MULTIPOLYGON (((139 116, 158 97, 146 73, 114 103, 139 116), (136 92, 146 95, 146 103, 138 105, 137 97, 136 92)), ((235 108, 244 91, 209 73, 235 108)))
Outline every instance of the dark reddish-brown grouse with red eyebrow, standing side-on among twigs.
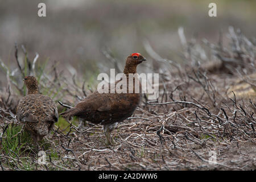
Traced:
MULTIPOLYGON (((64 117, 71 118, 77 116, 86 121, 99 124, 104 127, 106 134, 106 143, 111 144, 110 133, 118 122, 122 122, 130 117, 141 101, 141 83, 139 83, 139 93, 128 93, 128 75, 129 73, 137 73, 137 65, 146 59, 140 53, 133 53, 126 59, 125 69, 123 73, 127 79, 127 93, 98 93, 94 92, 84 100, 79 102, 75 107, 61 113, 64 117)), ((135 87, 135 79, 133 78, 133 90, 135 87)), ((120 80, 119 80, 120 81, 120 80)), ((114 84, 118 84, 116 81, 114 84)))

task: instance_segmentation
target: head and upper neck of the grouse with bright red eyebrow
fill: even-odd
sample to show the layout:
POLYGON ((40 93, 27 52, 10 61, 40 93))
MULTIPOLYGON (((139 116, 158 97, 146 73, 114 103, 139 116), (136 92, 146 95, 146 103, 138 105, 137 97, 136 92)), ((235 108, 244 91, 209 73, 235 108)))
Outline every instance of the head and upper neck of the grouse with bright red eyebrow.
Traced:
POLYGON ((137 72, 137 65, 141 64, 143 61, 146 61, 145 57, 143 57, 140 53, 132 53, 126 59, 125 69, 123 73, 128 75, 129 73, 137 72))

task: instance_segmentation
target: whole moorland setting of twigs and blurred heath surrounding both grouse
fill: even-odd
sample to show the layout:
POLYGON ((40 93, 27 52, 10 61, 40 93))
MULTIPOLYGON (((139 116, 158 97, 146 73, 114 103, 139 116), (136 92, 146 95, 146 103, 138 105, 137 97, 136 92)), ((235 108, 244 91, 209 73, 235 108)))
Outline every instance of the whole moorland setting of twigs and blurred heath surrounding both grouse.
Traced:
POLYGON ((255 170, 255 20, 256 0, 0 0, 0 170, 255 170), (35 163, 15 117, 23 77, 62 113, 133 52, 147 59, 138 73, 159 73, 158 100, 143 94, 113 150, 102 126, 60 117, 42 141, 47 165, 35 163), (205 163, 212 151, 219 165, 205 163))

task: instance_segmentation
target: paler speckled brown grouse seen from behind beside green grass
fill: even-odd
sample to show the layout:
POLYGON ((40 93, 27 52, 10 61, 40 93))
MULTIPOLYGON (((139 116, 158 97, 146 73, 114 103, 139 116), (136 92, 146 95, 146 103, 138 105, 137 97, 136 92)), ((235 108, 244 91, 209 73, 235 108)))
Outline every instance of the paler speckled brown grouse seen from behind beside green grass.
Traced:
POLYGON ((25 129, 38 144, 58 121, 57 106, 50 97, 39 93, 38 81, 35 77, 27 76, 23 81, 27 86, 28 94, 19 101, 17 118, 18 121, 25 123, 25 129))

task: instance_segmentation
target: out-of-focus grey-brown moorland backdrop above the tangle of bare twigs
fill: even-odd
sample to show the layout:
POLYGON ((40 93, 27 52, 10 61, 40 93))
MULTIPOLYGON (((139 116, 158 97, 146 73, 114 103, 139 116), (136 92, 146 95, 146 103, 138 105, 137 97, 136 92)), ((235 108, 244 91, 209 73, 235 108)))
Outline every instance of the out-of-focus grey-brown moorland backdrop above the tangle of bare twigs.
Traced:
MULTIPOLYGON (((38 64, 48 59, 51 67, 56 61, 60 70, 95 79, 104 68, 114 68, 102 51, 109 51, 123 69, 130 53, 148 57, 143 46, 146 40, 163 58, 179 61, 179 27, 188 40, 199 42, 206 38, 217 43, 222 31, 225 44, 229 26, 253 37, 255 9, 256 1, 249 0, 0 0, 0 59, 10 69, 17 68, 16 42, 20 60, 24 59, 23 44, 30 59, 38 52, 38 64), (38 17, 40 2, 46 3, 46 17, 38 17), (217 4, 217 17, 208 16, 210 2, 217 4)), ((0 86, 6 86, 5 80, 0 69, 0 86)))

